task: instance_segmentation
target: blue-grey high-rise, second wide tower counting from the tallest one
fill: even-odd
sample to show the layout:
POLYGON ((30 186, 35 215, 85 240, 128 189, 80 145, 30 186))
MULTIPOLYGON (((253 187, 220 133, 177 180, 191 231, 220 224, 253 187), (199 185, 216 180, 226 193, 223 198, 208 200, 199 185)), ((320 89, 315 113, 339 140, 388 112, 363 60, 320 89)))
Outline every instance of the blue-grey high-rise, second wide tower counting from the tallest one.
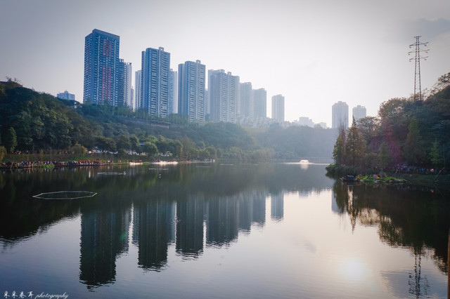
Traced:
POLYGON ((142 51, 142 107, 150 117, 167 117, 170 53, 164 48, 142 51))

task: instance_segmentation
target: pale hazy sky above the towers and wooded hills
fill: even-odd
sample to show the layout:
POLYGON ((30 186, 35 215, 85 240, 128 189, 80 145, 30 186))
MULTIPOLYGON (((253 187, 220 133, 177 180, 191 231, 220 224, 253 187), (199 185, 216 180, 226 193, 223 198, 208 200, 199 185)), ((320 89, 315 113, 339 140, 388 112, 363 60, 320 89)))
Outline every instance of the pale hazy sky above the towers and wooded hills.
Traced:
MULTIPOLYGON (((285 96, 285 119, 331 125, 331 105, 408 97, 413 36, 428 41, 422 88, 450 72, 449 0, 0 0, 0 80, 82 101, 84 37, 120 36, 120 57, 141 69, 141 51, 165 48, 171 67, 201 60, 285 96)), ((134 76, 133 76, 134 86, 134 76)))

